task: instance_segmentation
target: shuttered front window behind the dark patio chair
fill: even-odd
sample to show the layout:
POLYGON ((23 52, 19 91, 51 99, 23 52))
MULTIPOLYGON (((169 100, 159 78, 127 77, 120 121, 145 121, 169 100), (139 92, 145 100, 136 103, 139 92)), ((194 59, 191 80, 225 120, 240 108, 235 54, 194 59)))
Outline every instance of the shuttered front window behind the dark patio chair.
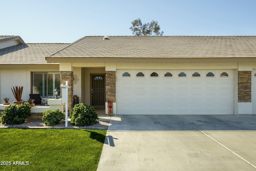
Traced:
MULTIPOLYGON (((58 72, 32 72, 32 94, 41 97, 54 97, 55 87, 60 92, 60 73, 58 72)), ((60 94, 58 94, 60 95, 60 94)))

